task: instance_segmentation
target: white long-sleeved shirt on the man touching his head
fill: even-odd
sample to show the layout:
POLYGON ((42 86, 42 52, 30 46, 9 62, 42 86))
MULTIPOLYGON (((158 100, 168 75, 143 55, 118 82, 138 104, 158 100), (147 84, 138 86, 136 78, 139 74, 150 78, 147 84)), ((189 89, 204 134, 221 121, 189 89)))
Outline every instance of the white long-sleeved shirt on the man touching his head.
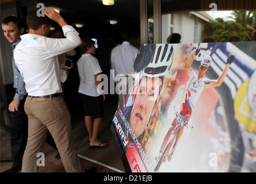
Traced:
POLYGON ((62 27, 65 39, 24 34, 14 50, 14 60, 31 96, 62 92, 58 55, 78 47, 82 41, 70 25, 62 27))

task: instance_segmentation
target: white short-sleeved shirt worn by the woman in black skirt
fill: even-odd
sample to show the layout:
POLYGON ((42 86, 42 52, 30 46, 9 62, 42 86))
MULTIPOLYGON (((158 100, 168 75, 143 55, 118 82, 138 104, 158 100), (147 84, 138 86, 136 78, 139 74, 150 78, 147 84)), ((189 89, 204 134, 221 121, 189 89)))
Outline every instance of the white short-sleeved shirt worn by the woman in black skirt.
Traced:
POLYGON ((100 96, 101 91, 97 90, 94 75, 100 74, 102 70, 96 57, 89 53, 83 54, 77 62, 77 67, 80 77, 78 92, 91 97, 100 96))

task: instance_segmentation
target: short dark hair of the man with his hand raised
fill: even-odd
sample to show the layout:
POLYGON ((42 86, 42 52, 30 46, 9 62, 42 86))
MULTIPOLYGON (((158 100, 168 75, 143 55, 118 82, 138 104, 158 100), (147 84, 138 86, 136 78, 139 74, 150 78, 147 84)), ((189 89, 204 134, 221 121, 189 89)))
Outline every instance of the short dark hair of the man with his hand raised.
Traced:
POLYGON ((26 16, 26 25, 29 29, 38 30, 43 24, 51 26, 51 19, 47 16, 38 17, 36 13, 37 10, 32 10, 26 16))

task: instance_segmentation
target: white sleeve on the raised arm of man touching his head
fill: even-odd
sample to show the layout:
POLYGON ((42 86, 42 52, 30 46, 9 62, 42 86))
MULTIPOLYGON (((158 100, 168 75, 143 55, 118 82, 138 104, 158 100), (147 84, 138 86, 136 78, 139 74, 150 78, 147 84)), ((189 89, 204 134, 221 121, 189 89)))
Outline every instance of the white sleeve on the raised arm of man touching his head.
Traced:
POLYGON ((65 25, 62 30, 65 39, 45 38, 45 47, 52 56, 70 51, 82 43, 79 33, 72 26, 65 25))

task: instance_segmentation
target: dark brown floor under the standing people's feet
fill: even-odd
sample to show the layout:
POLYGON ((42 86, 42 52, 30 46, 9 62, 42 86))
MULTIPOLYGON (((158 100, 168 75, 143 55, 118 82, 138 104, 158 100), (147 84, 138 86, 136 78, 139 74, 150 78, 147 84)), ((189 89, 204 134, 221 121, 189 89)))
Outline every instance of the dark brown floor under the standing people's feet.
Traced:
MULTIPOLYGON (((100 129, 100 137, 102 141, 108 141, 109 147, 102 148, 99 150, 90 150, 88 135, 86 132, 85 123, 83 121, 82 109, 77 108, 70 110, 73 127, 73 139, 75 147, 77 148, 78 155, 82 164, 82 168, 88 170, 91 167, 97 167, 97 172, 120 172, 125 171, 123 163, 120 159, 117 145, 113 139, 111 131, 111 120, 116 110, 116 102, 114 99, 108 99, 104 105, 105 116, 104 121, 100 129)), ((9 160, 11 159, 11 148, 10 148, 10 135, 6 131, 0 130, 0 159, 9 160)), ((57 151, 52 148, 49 144, 45 143, 42 152, 45 154, 45 167, 40 167, 39 172, 64 172, 61 159, 55 159, 57 151)), ((12 163, 1 162, 0 172, 10 168, 12 163)))

